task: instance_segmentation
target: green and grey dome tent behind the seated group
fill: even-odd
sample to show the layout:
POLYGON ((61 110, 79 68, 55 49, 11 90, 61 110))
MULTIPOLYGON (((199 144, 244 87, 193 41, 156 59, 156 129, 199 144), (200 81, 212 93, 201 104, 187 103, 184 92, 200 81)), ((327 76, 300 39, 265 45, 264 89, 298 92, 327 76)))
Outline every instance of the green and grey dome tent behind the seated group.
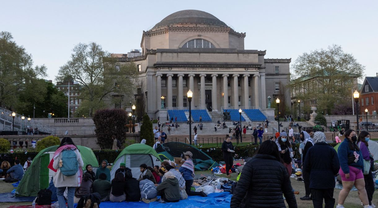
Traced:
POLYGON ((146 164, 149 167, 153 167, 154 165, 160 166, 161 160, 152 147, 138 143, 124 148, 121 153, 119 153, 110 169, 110 177, 112 179, 121 163, 125 163, 126 167, 131 169, 133 177, 138 179, 141 173, 139 169, 141 164, 146 164))

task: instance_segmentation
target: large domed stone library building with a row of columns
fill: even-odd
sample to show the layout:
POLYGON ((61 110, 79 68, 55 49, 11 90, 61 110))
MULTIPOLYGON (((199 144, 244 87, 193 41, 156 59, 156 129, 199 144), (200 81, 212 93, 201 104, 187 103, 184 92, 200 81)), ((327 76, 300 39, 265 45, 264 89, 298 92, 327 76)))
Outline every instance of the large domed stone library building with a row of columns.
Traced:
POLYGON ((280 93, 289 82, 291 59, 265 59, 266 50, 245 50, 245 37, 212 14, 183 10, 143 31, 141 52, 113 56, 119 64, 138 66, 135 99, 145 100, 150 118, 171 118, 176 116, 171 110, 187 109, 190 89, 192 109, 206 110, 210 119, 225 109, 242 108, 259 109, 273 120, 267 97, 290 100, 289 92, 280 93))

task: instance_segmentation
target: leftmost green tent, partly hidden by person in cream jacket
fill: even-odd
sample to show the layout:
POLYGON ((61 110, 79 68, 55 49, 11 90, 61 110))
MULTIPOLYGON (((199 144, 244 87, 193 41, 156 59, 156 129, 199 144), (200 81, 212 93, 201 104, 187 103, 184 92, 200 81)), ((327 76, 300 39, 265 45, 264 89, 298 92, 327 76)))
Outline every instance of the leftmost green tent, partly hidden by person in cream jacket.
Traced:
MULTIPOLYGON (((39 190, 48 188, 54 172, 48 169, 47 166, 58 147, 58 145, 51 146, 41 150, 37 154, 16 189, 18 195, 37 196, 39 190)), ((99 166, 93 151, 88 147, 79 145, 77 148, 79 149, 84 162, 83 170, 85 170, 86 165, 91 164, 93 166, 93 171, 96 172, 96 168, 99 166)))

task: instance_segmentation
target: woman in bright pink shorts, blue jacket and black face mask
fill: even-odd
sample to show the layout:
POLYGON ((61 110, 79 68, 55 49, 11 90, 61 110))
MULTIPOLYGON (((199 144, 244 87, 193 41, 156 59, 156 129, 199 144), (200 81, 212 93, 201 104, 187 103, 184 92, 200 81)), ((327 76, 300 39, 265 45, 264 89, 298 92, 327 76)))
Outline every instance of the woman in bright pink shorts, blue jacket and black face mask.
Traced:
POLYGON ((344 133, 345 139, 338 148, 340 162, 339 174, 342 181, 342 190, 339 193, 338 205, 336 208, 344 208, 344 201, 353 185, 358 190, 358 197, 364 204, 364 208, 372 208, 367 199, 365 180, 362 170, 364 168, 363 155, 358 148, 357 134, 352 129, 344 133))

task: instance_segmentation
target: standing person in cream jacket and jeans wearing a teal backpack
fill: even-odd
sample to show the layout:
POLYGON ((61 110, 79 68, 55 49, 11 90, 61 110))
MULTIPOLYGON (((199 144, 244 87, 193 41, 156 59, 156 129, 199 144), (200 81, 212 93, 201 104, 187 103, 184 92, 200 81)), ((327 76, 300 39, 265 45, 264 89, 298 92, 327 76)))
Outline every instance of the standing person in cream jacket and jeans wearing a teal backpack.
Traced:
POLYGON ((64 192, 67 189, 67 207, 73 208, 75 188, 81 185, 83 175, 82 167, 84 166, 81 154, 70 137, 65 137, 60 142, 58 149, 55 151, 53 159, 51 159, 48 168, 54 171, 53 182, 56 187, 56 195, 59 207, 66 207, 64 192), (71 151, 76 155, 76 159, 71 161, 71 151), (67 158, 65 157, 67 156, 67 158), (72 162, 76 162, 72 164, 72 162), (77 165, 77 166, 76 166, 77 165), (75 167, 76 166, 76 167, 75 167), (76 173, 68 176, 70 170, 76 168, 76 173), (65 170, 65 171, 64 171, 65 170))

